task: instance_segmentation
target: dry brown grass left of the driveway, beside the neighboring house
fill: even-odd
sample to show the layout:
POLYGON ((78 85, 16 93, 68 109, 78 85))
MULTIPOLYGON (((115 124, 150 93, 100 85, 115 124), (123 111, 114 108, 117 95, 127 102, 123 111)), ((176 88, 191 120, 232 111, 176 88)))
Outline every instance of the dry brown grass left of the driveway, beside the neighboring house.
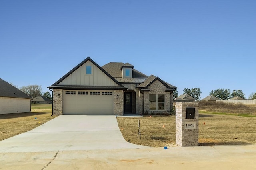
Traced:
POLYGON ((56 117, 51 115, 50 104, 34 104, 28 113, 0 115, 0 140, 30 131, 56 117))

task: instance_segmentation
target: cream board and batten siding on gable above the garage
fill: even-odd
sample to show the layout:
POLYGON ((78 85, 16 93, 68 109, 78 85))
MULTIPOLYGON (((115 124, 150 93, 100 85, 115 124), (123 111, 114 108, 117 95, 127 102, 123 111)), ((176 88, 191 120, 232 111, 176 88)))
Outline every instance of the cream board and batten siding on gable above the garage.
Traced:
POLYGON ((109 78, 104 72, 102 72, 102 70, 90 61, 84 63, 59 84, 78 86, 118 86, 116 82, 109 78), (86 65, 92 66, 92 75, 86 75, 86 65))

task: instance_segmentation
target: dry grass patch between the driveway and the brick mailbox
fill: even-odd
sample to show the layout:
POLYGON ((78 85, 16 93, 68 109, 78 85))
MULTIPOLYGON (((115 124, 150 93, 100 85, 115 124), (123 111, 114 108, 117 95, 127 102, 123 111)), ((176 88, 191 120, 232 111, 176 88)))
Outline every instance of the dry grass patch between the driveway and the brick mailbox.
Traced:
POLYGON ((175 143, 175 116, 140 118, 141 139, 138 137, 138 118, 117 117, 117 121, 124 139, 130 143, 153 147, 175 143))

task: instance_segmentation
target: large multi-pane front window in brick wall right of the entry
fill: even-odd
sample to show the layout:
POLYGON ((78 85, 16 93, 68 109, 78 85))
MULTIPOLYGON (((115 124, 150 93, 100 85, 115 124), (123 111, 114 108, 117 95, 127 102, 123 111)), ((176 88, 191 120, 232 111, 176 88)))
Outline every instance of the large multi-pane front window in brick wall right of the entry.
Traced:
POLYGON ((164 94, 150 94, 149 95, 149 109, 150 110, 164 110, 164 94))

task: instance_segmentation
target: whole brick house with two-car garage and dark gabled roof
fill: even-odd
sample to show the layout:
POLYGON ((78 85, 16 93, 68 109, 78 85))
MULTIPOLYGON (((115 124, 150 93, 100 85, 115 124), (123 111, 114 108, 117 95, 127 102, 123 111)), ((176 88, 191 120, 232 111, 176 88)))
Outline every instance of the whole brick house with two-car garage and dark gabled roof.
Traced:
POLYGON ((170 113, 177 88, 129 63, 99 66, 90 57, 48 87, 53 115, 170 113))

